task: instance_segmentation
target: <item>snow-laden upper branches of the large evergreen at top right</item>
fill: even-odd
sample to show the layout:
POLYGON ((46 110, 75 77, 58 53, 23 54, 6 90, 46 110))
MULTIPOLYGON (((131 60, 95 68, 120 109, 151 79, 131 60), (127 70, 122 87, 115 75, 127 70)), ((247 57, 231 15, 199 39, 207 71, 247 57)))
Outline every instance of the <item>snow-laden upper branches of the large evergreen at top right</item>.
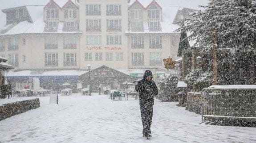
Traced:
POLYGON ((182 29, 191 31, 200 51, 211 50, 212 30, 217 48, 256 49, 256 0, 214 0, 204 11, 192 14, 182 29))

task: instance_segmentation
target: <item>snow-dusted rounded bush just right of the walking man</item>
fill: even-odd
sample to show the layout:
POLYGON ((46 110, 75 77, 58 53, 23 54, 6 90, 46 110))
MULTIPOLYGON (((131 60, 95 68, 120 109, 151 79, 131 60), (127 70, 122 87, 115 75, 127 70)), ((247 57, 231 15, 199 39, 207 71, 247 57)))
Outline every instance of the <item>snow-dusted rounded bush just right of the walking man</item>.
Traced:
POLYGON ((159 93, 157 98, 163 102, 177 101, 177 85, 179 78, 177 76, 169 75, 159 82, 159 93))

